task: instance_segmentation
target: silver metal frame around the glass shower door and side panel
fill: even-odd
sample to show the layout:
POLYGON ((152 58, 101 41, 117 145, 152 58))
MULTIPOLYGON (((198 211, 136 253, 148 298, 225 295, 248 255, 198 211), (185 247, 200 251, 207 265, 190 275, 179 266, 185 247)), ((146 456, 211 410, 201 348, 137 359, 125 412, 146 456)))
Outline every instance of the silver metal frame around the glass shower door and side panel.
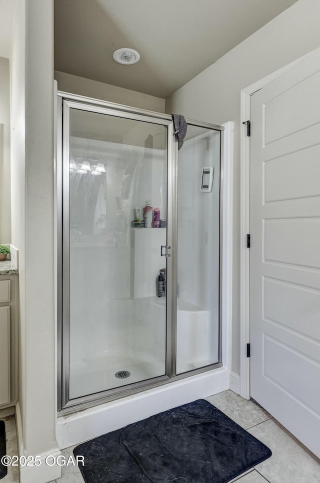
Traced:
POLYGON ((177 316, 177 139, 171 115, 106 102, 81 95, 58 91, 57 100, 57 409, 60 414, 79 408, 124 397, 141 390, 159 386, 220 367, 221 363, 221 258, 222 258, 222 179, 223 127, 186 119, 187 123, 220 131, 220 253, 219 253, 219 361, 199 369, 176 374, 176 316, 177 316), (69 399, 69 110, 76 108, 89 112, 113 115, 167 126, 167 240, 171 253, 167 260, 166 296, 166 358, 165 375, 127 384, 114 389, 69 399), (67 236, 63 236, 67 233, 67 236))

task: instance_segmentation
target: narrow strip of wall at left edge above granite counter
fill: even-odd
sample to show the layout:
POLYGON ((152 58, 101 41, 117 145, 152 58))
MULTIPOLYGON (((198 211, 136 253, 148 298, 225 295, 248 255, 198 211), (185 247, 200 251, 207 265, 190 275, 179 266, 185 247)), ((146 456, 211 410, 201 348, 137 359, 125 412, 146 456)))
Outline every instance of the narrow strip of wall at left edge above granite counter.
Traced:
POLYGON ((0 57, 0 243, 11 241, 9 60, 0 57))

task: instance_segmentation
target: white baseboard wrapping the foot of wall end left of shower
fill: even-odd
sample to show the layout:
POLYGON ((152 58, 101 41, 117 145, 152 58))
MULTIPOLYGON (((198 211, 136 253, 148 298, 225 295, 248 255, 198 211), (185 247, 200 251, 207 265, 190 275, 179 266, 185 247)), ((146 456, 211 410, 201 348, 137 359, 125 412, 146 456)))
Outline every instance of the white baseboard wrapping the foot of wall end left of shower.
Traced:
MULTIPOLYGON (((15 424, 19 456, 26 456, 24 453, 22 417, 19 401, 17 401, 15 406, 15 424)), ((37 458, 39 458, 41 461, 41 464, 38 466, 19 466, 20 483, 47 483, 48 481, 53 481, 54 479, 60 478, 61 466, 57 464, 49 466, 45 462, 47 456, 53 456, 56 458, 60 454, 61 451, 58 447, 52 448, 49 451, 45 451, 44 453, 37 455, 37 458)))

